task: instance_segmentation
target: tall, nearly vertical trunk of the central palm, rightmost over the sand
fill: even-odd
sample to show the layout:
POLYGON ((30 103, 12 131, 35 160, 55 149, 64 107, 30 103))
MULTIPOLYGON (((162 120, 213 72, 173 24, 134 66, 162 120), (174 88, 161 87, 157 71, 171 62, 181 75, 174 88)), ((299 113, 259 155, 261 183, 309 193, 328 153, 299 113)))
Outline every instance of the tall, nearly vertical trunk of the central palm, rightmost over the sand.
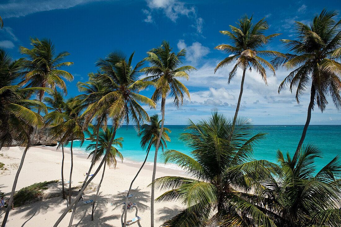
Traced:
POLYGON ((162 121, 161 121, 161 129, 159 133, 158 142, 155 147, 155 156, 154 156, 154 167, 153 167, 153 176, 151 180, 151 196, 150 196, 150 227, 154 227, 154 181, 155 181, 155 174, 156 174, 156 161, 158 158, 158 150, 159 144, 161 141, 162 133, 163 133, 163 123, 165 121, 165 104, 166 98, 162 98, 161 100, 161 113, 162 113, 162 121))

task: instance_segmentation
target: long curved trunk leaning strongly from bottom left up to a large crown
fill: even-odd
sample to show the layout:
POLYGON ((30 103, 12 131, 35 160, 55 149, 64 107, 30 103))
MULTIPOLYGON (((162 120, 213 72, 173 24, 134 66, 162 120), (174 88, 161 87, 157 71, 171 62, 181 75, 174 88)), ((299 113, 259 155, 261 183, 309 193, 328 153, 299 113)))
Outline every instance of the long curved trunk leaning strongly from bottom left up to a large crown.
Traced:
POLYGON ((115 126, 114 126, 114 133, 113 133, 113 136, 112 138, 110 139, 110 142, 108 144, 108 148, 107 148, 107 151, 100 163, 100 165, 98 166, 97 170, 93 173, 93 175, 91 176, 91 178, 86 182, 85 185, 83 185, 83 187, 80 189, 76 199, 71 203, 69 204, 69 207, 62 213, 62 215, 60 215, 60 217, 58 218, 57 222, 55 223, 54 227, 57 227, 58 224, 62 221, 62 219, 65 217, 65 215, 69 212, 68 209, 71 209, 71 207, 75 204, 75 207, 73 208, 73 212, 72 212, 72 215, 71 215, 71 219, 70 219, 70 222, 69 222, 69 227, 71 227, 72 225, 72 222, 73 222, 73 218, 75 216, 75 211, 76 211, 76 208, 77 208, 77 203, 78 203, 78 199, 80 198, 81 194, 83 193, 83 191, 85 190, 85 188, 88 186, 88 184, 92 181, 92 179, 97 175, 97 173, 100 171, 100 169, 102 168, 102 165, 103 163, 105 163, 105 160, 108 156, 108 153, 109 153, 109 147, 111 147, 111 145, 113 144, 113 141, 114 141, 114 138, 115 138, 115 135, 116 135, 116 131, 117 131, 117 128, 118 128, 118 122, 115 122, 115 126))

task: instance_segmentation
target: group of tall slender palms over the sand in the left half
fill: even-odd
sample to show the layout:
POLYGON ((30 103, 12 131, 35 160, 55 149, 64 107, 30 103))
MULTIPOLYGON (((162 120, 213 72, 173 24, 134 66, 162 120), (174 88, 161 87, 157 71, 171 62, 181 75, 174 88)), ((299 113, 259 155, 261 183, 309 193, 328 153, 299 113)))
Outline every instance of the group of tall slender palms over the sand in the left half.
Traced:
MULTIPOLYGON (((3 107, 1 109, 1 147, 10 146, 13 139, 20 146, 25 147, 9 202, 13 201, 17 178, 25 154, 32 145, 37 130, 41 127, 49 127, 53 138, 59 141, 58 148, 62 148, 62 195, 68 201, 65 212, 58 219, 55 226, 58 225, 67 212, 73 211, 70 219, 71 226, 76 213, 78 197, 99 172, 103 164, 101 182, 104 176, 105 163, 116 166, 116 157, 123 159, 120 152, 115 148, 115 145, 122 145, 123 138, 115 138, 116 131, 122 124, 135 125, 136 129, 143 135, 141 143, 143 147, 148 144, 147 156, 152 146, 156 148, 156 164, 158 148, 163 149, 163 147, 166 147, 165 141, 169 141, 167 135, 169 130, 163 128, 166 98, 168 96, 174 98, 175 105, 179 106, 179 104, 182 104, 184 94, 189 97, 188 89, 178 81, 178 78, 184 77, 188 79, 188 72, 194 70, 194 68, 182 66, 183 58, 186 55, 185 49, 179 53, 174 53, 172 47, 166 41, 163 41, 159 47, 147 52, 148 56, 135 66, 132 65, 134 53, 127 58, 121 52, 112 52, 105 58, 98 59, 96 62, 98 72, 90 73, 88 82, 78 82, 77 86, 82 94, 65 100, 63 94, 57 91, 56 87, 59 87, 66 95, 64 80, 73 80, 73 76, 69 72, 62 70, 63 67, 73 64, 73 62, 63 62, 69 53, 61 52, 56 54, 54 45, 47 39, 31 39, 31 45, 31 49, 20 47, 21 53, 26 58, 18 60, 13 60, 5 50, 1 49, 0 51, 1 78, 3 79, 0 88, 0 105, 3 107), (142 68, 145 61, 150 62, 152 66, 142 68), (142 73, 146 73, 147 77, 139 79, 142 73), (148 86, 155 87, 155 93, 151 99, 139 94, 141 90, 146 89, 148 86), (49 97, 45 97, 45 92, 49 94, 49 97), (142 107, 143 104, 155 108, 159 99, 162 100, 162 120, 159 120, 157 115, 150 118, 142 107), (41 115, 42 112, 45 113, 44 117, 41 115), (112 120, 112 128, 107 127, 109 119, 112 120), (143 124, 149 121, 149 125, 143 124), (92 125, 92 123, 94 124, 92 125), (140 131, 141 124, 143 125, 140 131), (100 130, 101 128, 102 130, 100 130), (89 157, 92 157, 91 165, 77 198, 72 200, 73 141, 77 139, 83 143, 85 132, 91 134, 94 142, 87 147, 87 150, 92 150, 89 155, 89 157), (64 146, 68 143, 71 143, 71 169, 67 198, 64 190, 63 168, 64 146), (96 162, 100 162, 99 167, 89 178, 89 174, 96 162), (71 210, 72 207, 73 210, 71 210)), ((156 165, 154 165, 153 180, 155 172, 156 165)), ((154 188, 152 188, 153 195, 154 188)), ((92 218, 95 201, 93 203, 92 218)), ((152 204, 153 201, 152 199, 152 204)), ((6 211, 2 226, 5 226, 8 212, 9 209, 6 211)))

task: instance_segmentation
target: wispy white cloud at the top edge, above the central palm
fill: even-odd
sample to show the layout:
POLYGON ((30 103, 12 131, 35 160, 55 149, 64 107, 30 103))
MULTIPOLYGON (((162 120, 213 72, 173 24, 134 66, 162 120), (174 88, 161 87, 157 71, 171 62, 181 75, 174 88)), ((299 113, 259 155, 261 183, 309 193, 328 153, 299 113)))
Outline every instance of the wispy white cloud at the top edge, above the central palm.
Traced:
MULTIPOLYGON (((179 0, 146 0, 146 2, 151 10, 161 10, 173 22, 176 22, 179 16, 192 19, 194 22, 192 27, 196 28, 198 33, 202 33, 204 20, 197 16, 194 6, 188 6, 179 0)), ((146 22, 149 22, 148 16, 146 22)))

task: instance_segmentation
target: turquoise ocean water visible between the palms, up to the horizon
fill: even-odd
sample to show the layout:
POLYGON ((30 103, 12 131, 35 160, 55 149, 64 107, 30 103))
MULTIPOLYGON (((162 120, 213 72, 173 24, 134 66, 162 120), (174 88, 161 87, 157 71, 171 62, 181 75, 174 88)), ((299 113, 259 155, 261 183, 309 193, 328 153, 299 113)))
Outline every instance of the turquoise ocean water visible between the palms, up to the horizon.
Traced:
MULTIPOLYGON (((170 142, 167 142, 167 149, 177 150, 190 155, 189 149, 179 140, 180 133, 184 132, 184 125, 167 125, 172 132, 169 133, 170 142)), ((253 134, 264 132, 266 138, 255 146, 254 158, 266 159, 276 162, 276 152, 280 149, 284 154, 288 151, 293 154, 301 137, 303 125, 254 125, 253 134)), ((146 151, 140 146, 140 138, 137 136, 133 126, 122 126, 117 130, 116 137, 123 137, 123 148, 118 148, 124 157, 124 161, 143 162, 146 151)), ((318 146, 323 152, 323 158, 316 159, 316 166, 321 169, 335 156, 341 154, 340 146, 341 125, 310 125, 305 138, 305 143, 312 143, 318 146)), ((86 155, 85 148, 91 141, 74 141, 74 152, 86 155)), ((66 146, 70 147, 70 143, 66 146)), ((159 152, 161 154, 161 152, 159 152)), ((149 153, 147 164, 154 160, 154 153, 149 153)), ((158 162, 161 162, 158 157, 158 162)), ((162 164, 160 164, 162 166, 162 164)), ((175 165, 167 165, 169 168, 176 168, 175 165)))

